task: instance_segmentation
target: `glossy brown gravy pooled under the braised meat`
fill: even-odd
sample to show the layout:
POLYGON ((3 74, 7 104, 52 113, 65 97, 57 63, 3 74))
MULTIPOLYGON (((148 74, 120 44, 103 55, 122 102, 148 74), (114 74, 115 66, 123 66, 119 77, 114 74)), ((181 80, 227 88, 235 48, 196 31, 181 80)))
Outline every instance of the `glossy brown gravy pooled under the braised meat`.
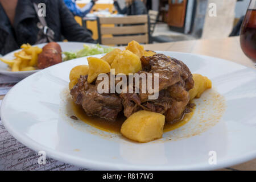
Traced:
MULTIPOLYGON (((189 122, 189 120, 192 118, 195 107, 193 107, 192 111, 190 113, 184 114, 184 117, 174 124, 165 123, 164 124, 164 132, 175 130, 183 125, 185 123, 189 122)), ((118 117, 117 121, 106 121, 105 119, 98 118, 98 117, 90 117, 86 115, 84 109, 82 109, 82 106, 76 105, 72 102, 72 109, 76 115, 77 118, 81 119, 81 121, 87 123, 90 126, 96 127, 97 129, 108 131, 110 133, 116 133, 119 134, 121 130, 122 123, 126 120, 126 117, 123 115, 118 117)))

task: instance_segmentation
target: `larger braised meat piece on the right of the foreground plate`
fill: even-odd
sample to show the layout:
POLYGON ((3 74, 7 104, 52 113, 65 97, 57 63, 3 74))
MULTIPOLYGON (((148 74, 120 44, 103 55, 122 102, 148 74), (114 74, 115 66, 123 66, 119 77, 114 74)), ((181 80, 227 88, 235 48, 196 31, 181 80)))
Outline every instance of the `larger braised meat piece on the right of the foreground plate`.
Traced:
POLYGON ((174 123, 183 115, 189 102, 188 91, 193 88, 192 74, 182 61, 155 54, 142 57, 142 71, 159 74, 159 96, 156 100, 148 100, 148 93, 121 93, 124 114, 129 117, 135 111, 149 110, 166 115, 166 121, 174 123))

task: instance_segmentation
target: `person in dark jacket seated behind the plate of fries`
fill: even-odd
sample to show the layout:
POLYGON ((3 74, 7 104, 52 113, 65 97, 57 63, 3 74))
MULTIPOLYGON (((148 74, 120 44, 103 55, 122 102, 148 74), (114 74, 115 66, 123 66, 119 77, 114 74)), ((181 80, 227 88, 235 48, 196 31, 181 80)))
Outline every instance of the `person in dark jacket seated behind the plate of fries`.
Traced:
POLYGON ((63 0, 0 0, 0 54, 19 49, 24 43, 50 42, 49 32, 55 42, 64 36, 69 41, 96 43, 76 22, 63 0), (46 5, 46 26, 36 13, 39 3, 46 5))

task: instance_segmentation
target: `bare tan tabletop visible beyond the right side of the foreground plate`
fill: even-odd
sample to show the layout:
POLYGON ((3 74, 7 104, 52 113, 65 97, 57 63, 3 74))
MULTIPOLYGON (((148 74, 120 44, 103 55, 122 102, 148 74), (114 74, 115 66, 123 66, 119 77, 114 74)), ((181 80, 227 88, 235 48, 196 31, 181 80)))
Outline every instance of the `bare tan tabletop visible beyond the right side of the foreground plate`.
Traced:
MULTIPOLYGON (((225 39, 199 39, 171 43, 147 44, 144 48, 153 51, 176 51, 213 56, 234 61, 235 63, 242 64, 250 68, 255 68, 255 63, 242 52, 238 36, 225 39)), ((256 170, 256 159, 219 170, 256 170)))

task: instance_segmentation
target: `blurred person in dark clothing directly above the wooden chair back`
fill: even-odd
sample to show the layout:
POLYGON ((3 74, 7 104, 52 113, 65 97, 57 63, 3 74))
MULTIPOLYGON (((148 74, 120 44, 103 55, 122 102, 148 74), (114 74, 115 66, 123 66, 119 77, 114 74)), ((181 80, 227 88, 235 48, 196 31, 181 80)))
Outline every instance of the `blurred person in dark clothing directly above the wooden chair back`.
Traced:
POLYGON ((115 9, 119 14, 143 15, 147 14, 147 9, 141 0, 125 0, 126 6, 121 9, 117 0, 114 0, 115 9))

